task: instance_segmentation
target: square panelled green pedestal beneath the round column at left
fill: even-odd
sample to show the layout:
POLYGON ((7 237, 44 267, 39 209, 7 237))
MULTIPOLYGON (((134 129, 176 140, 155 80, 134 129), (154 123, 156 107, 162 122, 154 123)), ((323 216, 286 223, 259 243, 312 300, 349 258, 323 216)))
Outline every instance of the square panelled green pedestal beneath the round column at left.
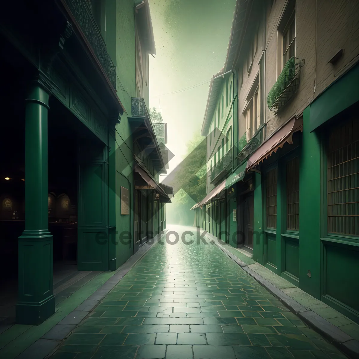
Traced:
POLYGON ((25 230, 19 237, 17 324, 39 325, 55 313, 52 238, 48 230, 25 230))

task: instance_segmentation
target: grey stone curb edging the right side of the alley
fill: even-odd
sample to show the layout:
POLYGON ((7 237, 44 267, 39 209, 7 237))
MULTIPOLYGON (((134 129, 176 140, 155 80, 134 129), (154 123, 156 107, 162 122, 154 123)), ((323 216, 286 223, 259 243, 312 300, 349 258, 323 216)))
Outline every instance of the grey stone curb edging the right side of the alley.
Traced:
POLYGON ((322 318, 317 313, 314 313, 311 309, 303 307, 302 304, 298 303, 289 295, 282 292, 275 285, 264 279, 261 275, 247 267, 243 261, 238 259, 227 249, 221 246, 213 236, 213 234, 206 233, 205 236, 214 244, 220 248, 225 254, 234 260, 241 268, 247 272, 250 276, 257 280, 264 288, 266 288, 274 297, 276 297, 281 303, 283 303, 291 312, 296 314, 303 322, 305 322, 313 330, 320 333, 334 346, 340 349, 343 353, 348 355, 350 358, 359 359, 359 341, 353 339, 351 336, 340 330, 338 327, 322 318))

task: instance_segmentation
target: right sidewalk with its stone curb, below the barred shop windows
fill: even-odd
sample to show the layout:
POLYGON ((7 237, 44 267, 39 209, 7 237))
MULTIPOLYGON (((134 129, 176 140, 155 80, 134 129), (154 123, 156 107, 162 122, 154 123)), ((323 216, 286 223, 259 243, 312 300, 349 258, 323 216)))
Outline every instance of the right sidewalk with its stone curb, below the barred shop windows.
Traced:
MULTIPOLYGON (((204 231, 201 229, 200 233, 204 231)), ((232 258, 244 271, 255 278, 287 308, 307 323, 308 326, 326 337, 333 345, 350 358, 359 358, 359 325, 312 297, 271 270, 253 261, 252 258, 236 250, 210 233, 205 235, 210 241, 232 258)))

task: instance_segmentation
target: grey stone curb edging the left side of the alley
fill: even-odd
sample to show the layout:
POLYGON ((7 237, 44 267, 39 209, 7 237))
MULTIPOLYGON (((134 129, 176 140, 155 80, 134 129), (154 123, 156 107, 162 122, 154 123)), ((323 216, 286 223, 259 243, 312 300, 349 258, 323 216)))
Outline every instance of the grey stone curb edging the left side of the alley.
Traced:
POLYGON ((61 341, 65 339, 76 325, 81 322, 90 311, 107 295, 115 285, 127 274, 127 272, 139 262, 146 253, 164 236, 168 229, 157 234, 154 240, 146 241, 139 250, 131 256, 121 267, 117 269, 116 274, 102 284, 90 297, 84 300, 77 308, 69 313, 64 319, 53 326, 45 335, 35 341, 16 359, 43 359, 50 358, 61 341))

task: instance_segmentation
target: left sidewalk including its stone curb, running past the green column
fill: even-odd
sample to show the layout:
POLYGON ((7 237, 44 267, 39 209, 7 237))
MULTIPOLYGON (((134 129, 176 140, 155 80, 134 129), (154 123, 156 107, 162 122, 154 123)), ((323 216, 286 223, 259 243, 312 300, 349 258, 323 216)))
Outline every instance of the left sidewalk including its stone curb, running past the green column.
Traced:
POLYGON ((55 313, 38 326, 14 324, 0 328, 0 358, 43 359, 49 355, 98 302, 145 256, 167 232, 146 242, 116 271, 100 272, 63 300, 55 313))

